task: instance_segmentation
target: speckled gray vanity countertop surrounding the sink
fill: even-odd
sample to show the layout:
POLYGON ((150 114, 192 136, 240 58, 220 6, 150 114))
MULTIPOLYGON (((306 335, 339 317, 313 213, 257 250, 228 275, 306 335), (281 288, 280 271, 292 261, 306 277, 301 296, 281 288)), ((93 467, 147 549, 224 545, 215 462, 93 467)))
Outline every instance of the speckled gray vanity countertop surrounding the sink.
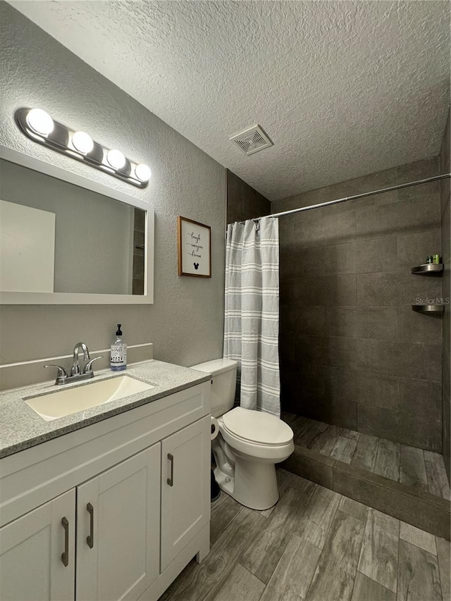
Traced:
POLYGON ((118 373, 108 369, 98 371, 92 380, 74 384, 55 386, 54 380, 51 380, 51 382, 6 390, 0 393, 0 459, 209 379, 210 376, 206 373, 152 360, 128 366, 126 371, 118 373), (44 421, 24 401, 25 398, 39 397, 49 392, 68 390, 117 376, 137 378, 154 388, 52 421, 44 421))

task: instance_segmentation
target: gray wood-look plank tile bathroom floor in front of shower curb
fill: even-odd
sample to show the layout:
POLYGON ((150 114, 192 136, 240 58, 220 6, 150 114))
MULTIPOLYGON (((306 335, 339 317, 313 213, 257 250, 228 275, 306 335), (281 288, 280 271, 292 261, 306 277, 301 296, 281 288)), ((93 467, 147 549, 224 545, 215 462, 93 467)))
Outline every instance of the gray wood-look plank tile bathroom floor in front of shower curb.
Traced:
POLYGON ((257 512, 226 493, 211 550, 161 601, 450 601, 450 543, 278 469, 257 512))

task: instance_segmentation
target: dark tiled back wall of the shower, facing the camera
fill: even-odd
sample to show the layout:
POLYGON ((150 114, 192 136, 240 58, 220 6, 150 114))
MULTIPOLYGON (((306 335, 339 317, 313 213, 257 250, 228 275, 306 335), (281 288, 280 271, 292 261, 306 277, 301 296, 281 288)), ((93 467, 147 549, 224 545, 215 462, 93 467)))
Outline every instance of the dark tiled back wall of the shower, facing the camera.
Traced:
MULTIPOLYGON (((438 157, 272 203, 273 212, 438 173, 438 157)), ((280 218, 283 409, 442 449, 440 318, 412 311, 441 278, 440 183, 280 218)))

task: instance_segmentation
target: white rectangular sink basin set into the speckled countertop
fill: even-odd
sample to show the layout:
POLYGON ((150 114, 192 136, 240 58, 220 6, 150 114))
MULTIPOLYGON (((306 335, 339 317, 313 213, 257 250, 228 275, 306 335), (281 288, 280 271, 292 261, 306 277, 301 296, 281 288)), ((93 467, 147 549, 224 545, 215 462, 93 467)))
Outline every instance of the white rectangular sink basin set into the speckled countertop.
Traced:
POLYGON ((64 417, 78 411, 85 411, 91 407, 98 407, 110 401, 117 401, 135 395, 137 392, 152 390, 155 388, 150 384, 130 378, 130 376, 116 376, 108 380, 99 380, 67 390, 50 392, 42 397, 30 397, 24 399, 33 411, 45 419, 51 421, 64 417))

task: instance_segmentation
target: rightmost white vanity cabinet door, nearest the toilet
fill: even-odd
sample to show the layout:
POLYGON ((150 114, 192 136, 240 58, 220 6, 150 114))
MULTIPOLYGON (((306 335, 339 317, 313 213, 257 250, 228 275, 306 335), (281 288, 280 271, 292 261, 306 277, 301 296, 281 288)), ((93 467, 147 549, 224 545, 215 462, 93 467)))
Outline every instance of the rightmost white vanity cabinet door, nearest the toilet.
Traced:
POLYGON ((161 442, 161 571, 210 521, 210 416, 161 442))

